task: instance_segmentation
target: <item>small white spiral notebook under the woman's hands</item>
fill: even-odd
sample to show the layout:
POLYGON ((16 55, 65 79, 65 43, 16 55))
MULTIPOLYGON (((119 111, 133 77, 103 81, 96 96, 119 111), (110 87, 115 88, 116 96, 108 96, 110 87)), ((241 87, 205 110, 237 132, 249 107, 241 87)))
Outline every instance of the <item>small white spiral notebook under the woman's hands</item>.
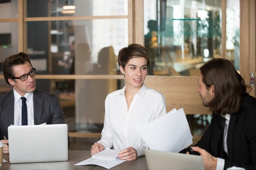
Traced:
POLYGON ((101 152, 92 155, 92 159, 108 159, 108 160, 117 160, 119 159, 118 157, 118 153, 120 152, 120 150, 115 150, 115 149, 110 149, 110 148, 106 148, 104 150, 102 150, 101 152))

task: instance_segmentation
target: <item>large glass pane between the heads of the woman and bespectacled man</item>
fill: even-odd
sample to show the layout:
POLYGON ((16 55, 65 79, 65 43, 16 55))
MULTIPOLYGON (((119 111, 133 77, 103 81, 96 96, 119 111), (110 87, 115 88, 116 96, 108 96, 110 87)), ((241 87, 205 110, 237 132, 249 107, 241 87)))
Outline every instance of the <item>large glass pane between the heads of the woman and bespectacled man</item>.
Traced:
POLYGON ((27 22, 27 53, 42 74, 119 74, 126 44, 127 19, 27 22))

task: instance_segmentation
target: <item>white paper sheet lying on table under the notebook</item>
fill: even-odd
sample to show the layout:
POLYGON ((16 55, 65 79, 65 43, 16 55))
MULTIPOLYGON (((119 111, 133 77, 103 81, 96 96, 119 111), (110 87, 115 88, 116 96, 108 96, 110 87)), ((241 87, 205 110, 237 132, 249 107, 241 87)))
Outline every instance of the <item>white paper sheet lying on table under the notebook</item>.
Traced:
POLYGON ((102 166, 104 168, 112 168, 114 166, 119 165, 120 163, 125 162, 126 160, 121 160, 121 159, 117 159, 115 161, 112 160, 104 160, 104 159, 86 159, 84 161, 81 161, 79 163, 76 163, 75 165, 98 165, 98 166, 102 166))

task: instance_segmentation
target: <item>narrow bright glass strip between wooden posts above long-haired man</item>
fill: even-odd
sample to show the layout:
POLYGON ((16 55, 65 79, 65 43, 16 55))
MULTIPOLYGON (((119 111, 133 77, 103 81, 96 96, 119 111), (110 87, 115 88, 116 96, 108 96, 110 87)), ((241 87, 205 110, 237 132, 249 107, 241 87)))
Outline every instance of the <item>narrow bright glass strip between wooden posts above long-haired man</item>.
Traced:
POLYGON ((227 24, 226 24, 226 56, 236 70, 239 70, 239 42, 240 42, 240 1, 227 1, 227 24))

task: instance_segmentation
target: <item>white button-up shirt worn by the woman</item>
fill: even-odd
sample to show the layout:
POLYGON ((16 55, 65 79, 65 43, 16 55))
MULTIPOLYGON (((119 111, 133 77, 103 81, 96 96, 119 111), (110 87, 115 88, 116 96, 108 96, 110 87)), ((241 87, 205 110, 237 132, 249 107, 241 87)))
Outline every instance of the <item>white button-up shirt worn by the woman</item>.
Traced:
POLYGON ((126 86, 106 97, 104 127, 98 143, 103 144, 105 148, 113 147, 117 150, 132 146, 137 150, 139 157, 144 155, 144 149, 148 146, 136 127, 166 114, 166 102, 164 95, 143 84, 133 97, 128 110, 125 90, 126 86))

